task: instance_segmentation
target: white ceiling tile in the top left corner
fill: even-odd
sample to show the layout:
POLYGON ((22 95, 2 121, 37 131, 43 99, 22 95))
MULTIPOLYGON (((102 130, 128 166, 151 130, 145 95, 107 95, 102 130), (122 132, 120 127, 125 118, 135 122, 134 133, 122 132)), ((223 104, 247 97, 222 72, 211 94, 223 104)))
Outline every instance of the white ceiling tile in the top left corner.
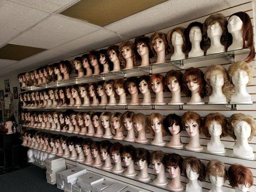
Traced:
POLYGON ((0 2, 0 41, 8 42, 25 29, 33 26, 49 13, 32 9, 17 3, 1 0, 0 2))

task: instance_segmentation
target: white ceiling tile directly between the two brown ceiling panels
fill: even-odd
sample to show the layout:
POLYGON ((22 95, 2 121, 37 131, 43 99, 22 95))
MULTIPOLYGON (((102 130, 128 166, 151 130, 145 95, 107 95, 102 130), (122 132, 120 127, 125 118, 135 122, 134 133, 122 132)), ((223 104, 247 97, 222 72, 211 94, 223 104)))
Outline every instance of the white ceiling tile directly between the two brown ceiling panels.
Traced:
POLYGON ((98 30, 85 22, 64 16, 51 15, 31 30, 12 40, 12 43, 38 48, 53 48, 72 39, 98 30))

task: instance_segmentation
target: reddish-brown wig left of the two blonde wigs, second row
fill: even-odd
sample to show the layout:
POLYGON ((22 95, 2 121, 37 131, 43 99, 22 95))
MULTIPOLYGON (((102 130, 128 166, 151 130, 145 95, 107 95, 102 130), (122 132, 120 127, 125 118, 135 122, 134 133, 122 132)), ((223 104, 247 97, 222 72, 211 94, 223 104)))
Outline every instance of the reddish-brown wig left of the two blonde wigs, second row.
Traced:
POLYGON ((187 83, 193 81, 194 83, 197 83, 199 85, 199 89, 197 93, 200 97, 204 98, 205 96, 205 79, 204 79, 204 73, 198 69, 191 67, 187 69, 183 74, 183 92, 187 97, 191 97, 191 91, 188 88, 187 83))

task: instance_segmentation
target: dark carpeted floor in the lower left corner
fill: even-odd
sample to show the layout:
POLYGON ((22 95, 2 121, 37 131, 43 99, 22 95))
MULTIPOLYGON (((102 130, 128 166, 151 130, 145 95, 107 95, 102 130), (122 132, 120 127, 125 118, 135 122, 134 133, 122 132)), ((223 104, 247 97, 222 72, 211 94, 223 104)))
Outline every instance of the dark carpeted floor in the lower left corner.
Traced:
POLYGON ((46 169, 31 166, 0 175, 0 192, 63 192, 47 183, 46 169))

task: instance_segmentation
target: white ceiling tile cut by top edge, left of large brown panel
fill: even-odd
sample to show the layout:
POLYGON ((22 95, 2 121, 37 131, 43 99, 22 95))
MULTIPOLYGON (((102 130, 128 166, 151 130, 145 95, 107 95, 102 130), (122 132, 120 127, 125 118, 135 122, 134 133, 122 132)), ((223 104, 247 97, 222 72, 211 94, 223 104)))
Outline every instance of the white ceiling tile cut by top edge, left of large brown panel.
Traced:
POLYGON ((55 12, 74 0, 13 0, 47 12, 55 12))

